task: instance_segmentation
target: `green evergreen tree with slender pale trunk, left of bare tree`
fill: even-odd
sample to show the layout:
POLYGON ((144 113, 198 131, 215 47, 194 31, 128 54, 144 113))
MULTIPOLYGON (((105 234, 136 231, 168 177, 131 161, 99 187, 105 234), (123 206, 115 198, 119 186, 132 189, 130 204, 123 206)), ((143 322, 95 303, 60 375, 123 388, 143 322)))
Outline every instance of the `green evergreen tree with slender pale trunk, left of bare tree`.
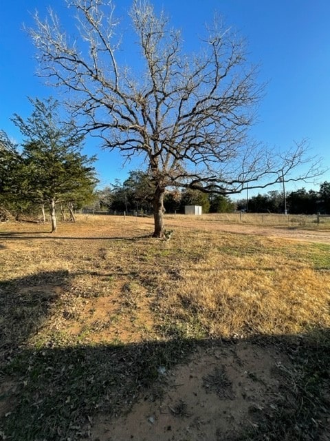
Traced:
POLYGON ((6 185, 10 198, 48 205, 55 231, 56 204, 79 203, 91 197, 97 183, 92 165, 96 158, 81 154, 84 136, 77 134, 74 121, 61 122, 56 100, 30 102, 34 110, 28 119, 18 114, 12 118, 24 139, 21 152, 12 153, 14 165, 7 167, 8 182, 18 184, 6 185))

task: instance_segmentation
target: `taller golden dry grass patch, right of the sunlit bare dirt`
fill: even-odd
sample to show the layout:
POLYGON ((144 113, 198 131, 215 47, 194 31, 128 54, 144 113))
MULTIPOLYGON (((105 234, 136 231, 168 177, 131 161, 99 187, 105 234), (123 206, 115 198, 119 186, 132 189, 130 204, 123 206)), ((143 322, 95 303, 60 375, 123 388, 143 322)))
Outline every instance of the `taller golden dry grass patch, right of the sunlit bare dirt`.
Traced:
POLYGON ((329 327, 327 249, 233 234, 201 236, 181 238, 200 255, 181 261, 179 280, 175 287, 167 284, 160 301, 163 316, 176 316, 186 333, 195 336, 198 328, 206 336, 246 337, 329 327))

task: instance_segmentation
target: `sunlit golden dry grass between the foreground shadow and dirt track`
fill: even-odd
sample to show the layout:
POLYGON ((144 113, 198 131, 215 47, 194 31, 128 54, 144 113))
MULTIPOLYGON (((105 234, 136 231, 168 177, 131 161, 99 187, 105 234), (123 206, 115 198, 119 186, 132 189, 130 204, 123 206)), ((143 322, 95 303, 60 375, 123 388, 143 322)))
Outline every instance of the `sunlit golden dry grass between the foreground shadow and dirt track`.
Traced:
POLYGON ((80 216, 55 235, 45 225, 3 225, 3 287, 17 298, 52 298, 44 317, 42 302, 30 315, 43 325, 29 344, 54 333, 82 344, 329 327, 329 246, 201 231, 193 222, 177 224, 169 241, 148 237, 146 218, 80 216))

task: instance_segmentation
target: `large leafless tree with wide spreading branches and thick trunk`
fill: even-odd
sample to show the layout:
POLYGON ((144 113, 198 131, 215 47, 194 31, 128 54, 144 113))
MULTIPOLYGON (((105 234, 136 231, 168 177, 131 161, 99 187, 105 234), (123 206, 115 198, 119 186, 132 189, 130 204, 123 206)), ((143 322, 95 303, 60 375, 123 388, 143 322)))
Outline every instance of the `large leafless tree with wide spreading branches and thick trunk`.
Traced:
POLYGON ((134 0, 130 17, 141 57, 134 72, 120 64, 113 2, 67 3, 76 11, 80 41, 70 41, 52 10, 45 21, 35 16, 30 35, 41 75, 75 92, 70 105, 82 117, 81 130, 126 158, 144 158, 155 184, 154 236, 164 233, 166 187, 234 194, 318 174, 313 163, 292 176, 310 160, 306 141, 276 155, 249 140, 263 87, 256 84, 244 42, 220 20, 201 39, 200 53, 188 57, 164 13, 158 17, 151 3, 134 0))

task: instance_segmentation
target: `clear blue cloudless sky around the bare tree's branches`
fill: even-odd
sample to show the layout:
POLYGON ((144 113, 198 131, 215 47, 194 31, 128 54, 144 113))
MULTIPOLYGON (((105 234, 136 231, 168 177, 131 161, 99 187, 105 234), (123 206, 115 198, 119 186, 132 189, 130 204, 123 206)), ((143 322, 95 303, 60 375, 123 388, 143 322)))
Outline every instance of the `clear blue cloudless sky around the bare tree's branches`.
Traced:
MULTIPOLYGON (((116 0, 115 4, 118 14, 125 17, 131 1, 116 0)), ((188 50, 198 49, 198 37, 214 12, 223 15, 247 39, 250 60, 261 64, 259 80, 267 81, 253 136, 283 148, 307 138, 311 154, 322 156, 323 164, 330 167, 329 0, 153 0, 153 4, 157 10, 163 7, 173 25, 181 29, 188 50)), ((36 76, 35 50, 23 31, 23 23, 33 25, 31 13, 39 10, 43 17, 47 6, 58 12, 65 26, 72 12, 65 8, 64 0, 1 1, 0 129, 18 142, 21 136, 10 117, 14 113, 23 118, 30 115, 28 96, 56 97, 57 91, 36 76)), ((115 178, 123 181, 137 166, 122 167, 120 156, 101 151, 95 139, 87 142, 85 153, 98 154, 101 186, 115 178)), ((319 181, 330 181, 330 172, 319 181)), ((313 185, 298 183, 291 189, 301 187, 313 185)))

